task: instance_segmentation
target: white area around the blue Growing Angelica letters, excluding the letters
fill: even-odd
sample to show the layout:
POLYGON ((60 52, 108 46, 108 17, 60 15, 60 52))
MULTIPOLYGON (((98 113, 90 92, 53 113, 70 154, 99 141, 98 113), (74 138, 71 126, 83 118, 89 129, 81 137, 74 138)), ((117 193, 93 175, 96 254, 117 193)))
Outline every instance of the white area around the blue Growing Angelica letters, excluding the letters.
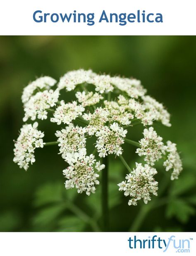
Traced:
POLYGON ((0 1, 1 35, 196 35, 196 0, 6 0, 0 1), (36 23, 33 12, 95 13, 95 25, 57 22, 36 23), (162 13, 163 23, 98 23, 106 13, 162 13))

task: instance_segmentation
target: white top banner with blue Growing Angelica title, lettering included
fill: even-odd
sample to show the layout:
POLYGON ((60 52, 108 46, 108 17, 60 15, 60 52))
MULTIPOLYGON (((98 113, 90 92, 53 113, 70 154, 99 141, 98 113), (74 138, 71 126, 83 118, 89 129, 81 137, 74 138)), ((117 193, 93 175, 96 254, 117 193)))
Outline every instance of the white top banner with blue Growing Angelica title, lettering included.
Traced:
POLYGON ((196 35, 195 0, 6 0, 1 35, 196 35))

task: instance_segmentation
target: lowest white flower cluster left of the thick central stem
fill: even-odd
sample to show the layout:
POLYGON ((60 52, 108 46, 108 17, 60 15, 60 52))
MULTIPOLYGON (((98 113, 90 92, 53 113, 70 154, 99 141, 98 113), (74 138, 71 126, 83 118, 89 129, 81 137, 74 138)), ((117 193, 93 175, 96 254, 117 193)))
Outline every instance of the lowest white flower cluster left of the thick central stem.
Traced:
POLYGON ((105 165, 100 165, 100 161, 96 162, 94 157, 93 154, 90 156, 79 153, 73 154, 73 162, 70 162, 71 165, 63 170, 63 174, 67 178, 65 182, 66 189, 76 187, 78 193, 85 191, 88 196, 95 193, 94 185, 99 184, 97 172, 100 172, 105 165), (94 165, 95 167, 93 167, 94 165), (97 170, 96 172, 94 168, 97 170))

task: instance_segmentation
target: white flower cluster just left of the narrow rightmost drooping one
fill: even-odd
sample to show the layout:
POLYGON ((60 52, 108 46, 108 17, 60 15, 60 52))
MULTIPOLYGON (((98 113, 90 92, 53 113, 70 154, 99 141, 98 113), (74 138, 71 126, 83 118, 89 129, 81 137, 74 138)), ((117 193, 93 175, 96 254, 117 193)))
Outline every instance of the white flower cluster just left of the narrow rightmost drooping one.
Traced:
POLYGON ((149 129, 144 129, 144 138, 139 140, 141 148, 137 148, 136 153, 139 156, 144 155, 144 160, 148 165, 153 166, 156 161, 165 155, 165 150, 167 147, 162 142, 163 138, 158 136, 153 127, 149 129))

